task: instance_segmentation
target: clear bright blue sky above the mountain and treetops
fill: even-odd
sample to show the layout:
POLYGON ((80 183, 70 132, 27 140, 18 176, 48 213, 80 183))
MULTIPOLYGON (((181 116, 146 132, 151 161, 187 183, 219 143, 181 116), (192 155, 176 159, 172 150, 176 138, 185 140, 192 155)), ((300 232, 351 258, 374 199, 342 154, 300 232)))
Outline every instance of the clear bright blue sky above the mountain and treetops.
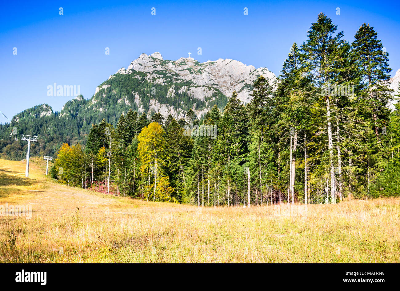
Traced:
MULTIPOLYGON (((392 75, 400 68, 399 1, 2 1, 0 111, 10 119, 41 103, 60 111, 73 97, 48 97, 48 85, 80 85, 88 99, 120 67, 154 51, 173 60, 189 51, 200 62, 237 59, 279 75, 291 45, 306 40, 320 12, 349 41, 364 22, 374 26, 392 75)), ((0 122, 7 119, 0 115, 0 122)))

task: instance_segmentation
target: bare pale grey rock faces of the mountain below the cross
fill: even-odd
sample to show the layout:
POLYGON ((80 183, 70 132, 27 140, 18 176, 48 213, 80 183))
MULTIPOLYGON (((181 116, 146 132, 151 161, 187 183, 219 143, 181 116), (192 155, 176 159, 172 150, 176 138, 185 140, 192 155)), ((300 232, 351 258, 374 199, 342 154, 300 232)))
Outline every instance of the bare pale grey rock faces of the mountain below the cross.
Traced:
MULTIPOLYGON (((241 101, 248 103, 250 102, 252 83, 259 75, 264 75, 272 83, 276 82, 276 76, 268 68, 260 67, 256 69, 252 65, 246 65, 234 59, 220 58, 216 61, 200 63, 192 57, 181 57, 173 61, 164 60, 159 52, 152 53, 151 55, 142 53, 130 63, 128 69, 125 69, 125 67, 120 68, 114 75, 110 75, 108 80, 116 77, 118 74, 134 74, 135 71, 144 73, 144 78, 150 83, 159 85, 169 84, 166 97, 174 97, 176 93, 186 92, 188 96, 206 101, 206 103, 206 99, 214 93, 218 93, 218 91, 228 98, 234 90, 238 92, 238 98, 241 101), (168 78, 169 80, 166 80, 168 78), (181 83, 188 83, 188 85, 174 85, 181 83)), ((135 77, 141 79, 138 76, 135 77)), ((96 87, 95 96, 101 89, 106 89, 104 86, 107 85, 102 83, 100 86, 96 87)), ((140 93, 132 92, 132 94, 135 95, 134 101, 138 106, 138 112, 143 113, 145 108, 141 106, 140 93)), ((128 102, 130 103, 126 98, 124 98, 124 102, 127 105, 128 102)), ((152 111, 156 111, 160 112, 164 117, 171 114, 173 117, 179 119, 183 118, 184 113, 187 111, 186 109, 179 110, 180 108, 163 106, 165 103, 159 103, 158 100, 151 100, 150 104, 152 104, 151 112, 147 112, 148 116, 152 111)), ((206 110, 210 109, 207 104, 206 107, 208 107, 206 110)), ((195 106, 191 109, 195 111, 198 118, 201 118, 201 115, 205 113, 204 109, 196 110, 195 106)))

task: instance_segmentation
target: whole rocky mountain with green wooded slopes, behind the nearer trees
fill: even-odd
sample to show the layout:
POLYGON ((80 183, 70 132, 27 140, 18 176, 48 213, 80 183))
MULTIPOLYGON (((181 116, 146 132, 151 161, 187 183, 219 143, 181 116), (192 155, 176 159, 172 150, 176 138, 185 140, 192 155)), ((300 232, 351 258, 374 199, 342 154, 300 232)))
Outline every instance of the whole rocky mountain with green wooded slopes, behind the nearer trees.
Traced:
POLYGON ((32 143, 32 155, 52 155, 64 142, 85 144, 92 124, 106 119, 115 127, 129 109, 148 118, 161 113, 177 120, 192 109, 201 119, 214 105, 222 110, 234 90, 240 100, 250 102, 252 84, 260 75, 276 81, 267 68, 232 59, 199 63, 192 57, 171 61, 158 52, 142 53, 128 69, 121 68, 102 82, 92 98, 79 95, 60 112, 48 104, 37 105, 15 115, 11 124, 0 125, 1 157, 24 158, 26 143, 20 141, 21 134, 39 136, 39 142, 32 143))

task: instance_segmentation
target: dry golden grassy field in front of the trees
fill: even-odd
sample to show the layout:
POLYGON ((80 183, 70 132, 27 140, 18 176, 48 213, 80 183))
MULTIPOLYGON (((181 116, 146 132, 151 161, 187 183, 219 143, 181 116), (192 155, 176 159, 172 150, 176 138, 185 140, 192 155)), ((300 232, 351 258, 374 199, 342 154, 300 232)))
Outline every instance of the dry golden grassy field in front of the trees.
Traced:
POLYGON ((400 199, 197 208, 107 196, 52 182, 45 161, 0 160, 1 263, 400 262, 400 199), (300 207, 300 205, 298 206, 300 207), (289 214, 288 214, 289 213, 289 214))

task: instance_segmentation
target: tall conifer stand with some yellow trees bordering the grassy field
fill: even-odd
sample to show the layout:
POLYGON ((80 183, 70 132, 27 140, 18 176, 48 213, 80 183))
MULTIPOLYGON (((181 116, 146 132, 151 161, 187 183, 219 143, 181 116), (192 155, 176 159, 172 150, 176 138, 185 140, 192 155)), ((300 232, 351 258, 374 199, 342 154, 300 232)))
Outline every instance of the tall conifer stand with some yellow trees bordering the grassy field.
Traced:
POLYGON ((234 91, 201 120, 192 109, 179 120, 132 110, 116 126, 103 119, 82 143, 71 133, 50 174, 70 186, 198 206, 399 196, 400 105, 389 108, 398 92, 387 87, 382 48, 369 24, 349 43, 320 14, 279 81, 254 82, 250 103, 234 91))

